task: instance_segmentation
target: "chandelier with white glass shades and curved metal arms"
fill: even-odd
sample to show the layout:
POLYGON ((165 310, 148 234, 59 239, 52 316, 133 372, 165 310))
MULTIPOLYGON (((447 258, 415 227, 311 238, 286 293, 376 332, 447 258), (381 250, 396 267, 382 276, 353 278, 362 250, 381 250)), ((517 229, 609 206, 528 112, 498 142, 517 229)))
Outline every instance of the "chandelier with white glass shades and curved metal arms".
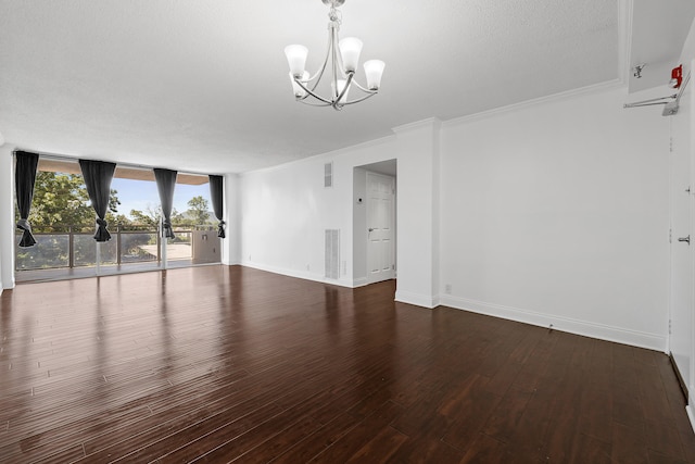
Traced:
POLYGON ((383 73, 383 61, 369 60, 365 62, 364 68, 367 76, 367 86, 363 87, 355 80, 355 71, 362 52, 362 40, 354 37, 338 38, 342 16, 337 7, 342 5, 345 0, 321 0, 324 4, 330 5, 328 17, 328 50, 324 64, 316 74, 309 76, 306 66, 306 55, 308 49, 300 45, 291 45, 285 48, 287 61, 290 64, 290 80, 294 98, 302 103, 314 106, 333 106, 342 110, 345 104, 358 103, 374 97, 379 91, 381 74, 383 73), (327 71, 330 73, 330 96, 321 97, 316 91, 318 83, 327 71), (357 87, 362 91, 361 97, 355 100, 348 100, 348 93, 357 87), (312 98, 309 98, 312 97, 312 98))

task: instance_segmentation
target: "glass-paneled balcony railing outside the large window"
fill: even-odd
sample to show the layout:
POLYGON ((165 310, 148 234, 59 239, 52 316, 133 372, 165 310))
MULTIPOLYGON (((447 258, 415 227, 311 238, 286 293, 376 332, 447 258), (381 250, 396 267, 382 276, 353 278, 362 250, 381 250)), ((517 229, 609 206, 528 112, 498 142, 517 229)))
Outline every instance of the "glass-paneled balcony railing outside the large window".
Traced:
MULTIPOLYGON (((167 239, 166 261, 188 260, 194 264, 201 263, 200 259, 197 259, 197 254, 200 253, 194 250, 197 247, 194 236, 204 234, 206 230, 212 234, 210 226, 175 227, 176 238, 167 239)), ((124 229, 116 226, 113 229, 110 228, 110 233, 111 240, 101 243, 99 253, 97 253, 93 230, 66 227, 58 231, 34 233, 37 242, 34 247, 20 248, 15 246, 15 269, 37 271, 96 266, 98 254, 100 255, 100 266, 155 262, 161 264, 163 253, 159 230, 151 227, 124 229)), ((18 243, 21 234, 17 234, 15 243, 18 243)), ((205 262, 219 262, 218 248, 217 254, 213 258, 210 253, 205 253, 205 262)))

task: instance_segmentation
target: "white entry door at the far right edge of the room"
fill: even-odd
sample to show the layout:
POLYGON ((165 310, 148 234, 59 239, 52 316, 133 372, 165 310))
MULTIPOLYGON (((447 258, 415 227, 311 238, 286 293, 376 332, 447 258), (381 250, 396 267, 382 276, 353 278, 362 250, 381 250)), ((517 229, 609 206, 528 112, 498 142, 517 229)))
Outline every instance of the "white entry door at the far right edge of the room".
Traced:
MULTIPOLYGON (((693 389, 692 92, 686 88, 671 117, 671 304, 669 346, 688 390, 693 389)), ((691 399, 691 403, 692 403, 691 399)))

